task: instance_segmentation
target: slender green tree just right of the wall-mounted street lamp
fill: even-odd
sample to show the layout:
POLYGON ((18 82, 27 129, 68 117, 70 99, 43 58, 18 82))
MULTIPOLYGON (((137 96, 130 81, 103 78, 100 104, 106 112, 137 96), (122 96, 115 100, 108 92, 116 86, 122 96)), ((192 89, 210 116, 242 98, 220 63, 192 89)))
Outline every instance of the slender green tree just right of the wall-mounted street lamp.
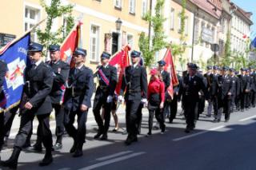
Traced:
POLYGON ((150 67, 154 63, 154 56, 156 52, 166 47, 165 34, 163 30, 163 22, 166 21, 162 14, 165 0, 157 0, 156 6, 154 8, 155 14, 152 15, 149 11, 145 15, 145 20, 150 23, 153 28, 154 35, 152 37, 152 45, 150 44, 150 37, 145 33, 141 33, 138 40, 139 49, 143 53, 146 67, 150 67))

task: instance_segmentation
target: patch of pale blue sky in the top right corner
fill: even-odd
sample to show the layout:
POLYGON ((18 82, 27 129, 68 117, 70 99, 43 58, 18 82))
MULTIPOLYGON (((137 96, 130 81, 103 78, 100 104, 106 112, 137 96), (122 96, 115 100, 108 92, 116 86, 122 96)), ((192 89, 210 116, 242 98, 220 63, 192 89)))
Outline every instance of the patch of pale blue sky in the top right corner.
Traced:
POLYGON ((250 28, 252 33, 250 38, 254 39, 256 37, 256 0, 231 0, 231 2, 234 2, 243 10, 253 13, 252 21, 254 22, 254 25, 250 28))

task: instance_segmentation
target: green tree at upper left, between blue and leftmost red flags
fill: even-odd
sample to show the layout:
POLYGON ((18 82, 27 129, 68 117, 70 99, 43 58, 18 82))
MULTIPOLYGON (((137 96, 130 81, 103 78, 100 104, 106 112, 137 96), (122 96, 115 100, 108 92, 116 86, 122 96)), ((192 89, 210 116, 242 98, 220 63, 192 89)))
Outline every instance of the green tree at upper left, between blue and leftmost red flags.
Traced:
POLYGON ((46 10, 46 29, 37 30, 38 40, 44 45, 46 49, 50 44, 60 44, 64 41, 67 34, 74 27, 74 18, 71 13, 73 11, 72 5, 62 6, 61 0, 52 0, 50 6, 46 5, 45 0, 40 0, 41 6, 46 10), (66 20, 66 26, 61 26, 56 32, 51 31, 55 18, 64 16, 66 20))

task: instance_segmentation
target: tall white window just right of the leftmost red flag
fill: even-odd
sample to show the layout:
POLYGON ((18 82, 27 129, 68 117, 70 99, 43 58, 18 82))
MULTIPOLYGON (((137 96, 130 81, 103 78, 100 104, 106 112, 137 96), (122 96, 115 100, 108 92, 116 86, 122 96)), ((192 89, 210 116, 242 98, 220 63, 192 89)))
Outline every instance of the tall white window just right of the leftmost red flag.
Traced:
POLYGON ((90 60, 98 61, 99 26, 90 26, 90 60))

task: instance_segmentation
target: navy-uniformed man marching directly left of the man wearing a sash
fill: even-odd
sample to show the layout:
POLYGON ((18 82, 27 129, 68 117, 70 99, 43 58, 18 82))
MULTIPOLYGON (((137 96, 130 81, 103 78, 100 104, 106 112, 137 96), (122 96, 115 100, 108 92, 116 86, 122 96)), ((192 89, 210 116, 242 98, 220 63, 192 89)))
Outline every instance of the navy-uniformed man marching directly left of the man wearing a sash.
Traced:
POLYGON ((94 75, 92 70, 84 65, 86 49, 77 48, 73 55, 75 66, 70 69, 63 105, 66 132, 74 140, 70 153, 78 157, 83 155, 82 145, 86 141, 86 120, 94 90, 94 75), (74 127, 75 116, 78 117, 78 128, 74 127))

